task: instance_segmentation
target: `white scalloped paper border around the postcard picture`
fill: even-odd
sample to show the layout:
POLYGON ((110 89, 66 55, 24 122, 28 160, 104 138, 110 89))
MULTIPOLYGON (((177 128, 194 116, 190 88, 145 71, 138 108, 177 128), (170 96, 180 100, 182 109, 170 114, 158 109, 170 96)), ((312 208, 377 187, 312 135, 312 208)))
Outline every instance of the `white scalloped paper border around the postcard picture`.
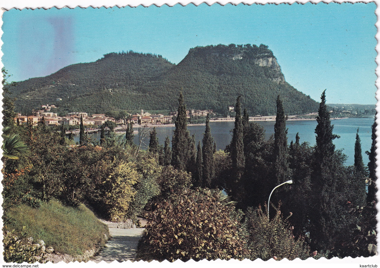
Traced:
MULTIPOLYGON (((174 5, 182 5, 182 6, 186 6, 186 5, 189 5, 189 4, 193 4, 195 6, 198 6, 198 5, 201 5, 203 3, 211 6, 211 5, 215 5, 215 4, 219 4, 219 5, 255 5, 255 4, 258 4, 258 5, 265 5, 265 4, 275 4, 275 5, 279 5, 279 4, 288 4, 288 5, 292 5, 292 4, 305 4, 305 3, 313 3, 313 4, 317 4, 317 3, 371 3, 371 2, 375 2, 376 5, 377 5, 377 8, 376 8, 376 11, 375 11, 375 14, 377 17, 380 16, 380 0, 362 0, 362 1, 344 1, 344 0, 335 0, 335 1, 313 1, 313 0, 310 0, 310 1, 306 1, 306 0, 301 0, 301 1, 265 1, 265 0, 257 0, 257 1, 238 1, 238 0, 232 0, 232 1, 228 1, 228 0, 220 0, 220 1, 197 1, 197 0, 194 0, 194 1, 175 1, 175 0, 167 0, 167 1, 164 1, 164 0, 156 0, 156 1, 153 1, 153 0, 130 0, 130 1, 120 1, 120 0, 110 0, 110 1, 106 1, 106 0, 2 0, 0 2, 0 8, 1 8, 1 17, 2 17, 2 14, 10 9, 19 9, 19 10, 22 10, 22 9, 50 9, 50 8, 76 8, 76 7, 80 7, 80 8, 113 8, 113 7, 118 7, 118 8, 125 8, 125 7, 130 7, 130 8, 135 8, 137 6, 144 6, 144 7, 147 7, 147 6, 150 6, 150 5, 155 5, 155 6, 163 6, 163 5, 167 5, 167 6, 174 6, 174 5)), ((2 26, 2 20, 0 22, 0 27, 2 26)), ((377 34, 375 36, 376 40, 377 40, 377 45, 376 45, 376 48, 375 50, 377 51, 377 53, 379 53, 379 49, 380 49, 380 45, 379 45, 379 26, 380 26, 380 23, 379 23, 379 20, 377 20, 375 26, 377 27, 377 34)), ((1 38, 1 35, 3 34, 3 31, 0 29, 0 38, 1 38)), ((2 46, 3 44, 3 41, 0 39, 0 47, 2 46)), ((3 52, 0 51, 0 58, 3 56, 3 52)), ((380 74, 380 68, 379 68, 379 57, 377 55, 376 57, 376 60, 375 62, 377 63, 377 68, 376 68, 376 71, 375 73, 377 74, 377 80, 375 82, 375 85, 377 87, 377 92, 376 92, 376 99, 377 99, 377 104, 376 104, 376 111, 378 113, 377 117, 376 117, 376 123, 377 123, 377 128, 376 128, 376 136, 377 136, 377 144, 376 144, 376 153, 377 153, 377 157, 376 157, 376 164, 377 164, 377 169, 376 169, 376 173, 377 173, 377 177, 378 177, 378 180, 377 180, 377 200, 379 200, 379 202, 377 203, 377 211, 380 211, 380 78, 379 78, 379 74, 380 74)), ((3 63, 0 61, 0 68, 3 67, 3 63)), ((2 92, 2 90, 1 90, 2 92)), ((0 100, 1 104, 2 104, 2 101, 0 100)), ((0 123, 2 122, 2 118, 0 118, 0 123)), ((0 125, 1 126, 1 125, 0 125)), ((0 128, 0 132, 1 132, 1 128, 0 128)), ((0 143, 2 143, 2 137, 0 136, 0 143)), ((2 185, 0 184, 0 190, 2 190, 2 185)), ((2 196, 0 195, 0 202, 2 202, 2 196)), ((2 207, 0 207, 0 211, 2 212, 2 207)), ((380 243, 380 234, 379 234, 379 230, 380 230, 380 213, 377 214, 377 244, 379 245, 380 243)), ((0 259, 0 263, 3 264, 3 260, 2 260, 2 252, 3 252, 3 244, 1 243, 3 239, 3 235, 2 235, 2 232, 0 232, 0 255, 1 255, 1 259, 0 259)), ((337 257, 334 257, 332 259, 325 259, 325 258, 320 258, 318 260, 315 260, 313 258, 309 258, 307 260, 301 260, 301 259, 295 259, 295 260, 287 260, 287 259, 283 259, 283 260, 280 260, 280 261, 276 261, 274 259, 270 259, 266 262, 264 262, 263 260, 261 259, 256 259, 254 261, 251 261, 251 260, 242 260, 242 261, 239 261, 239 260, 229 260, 229 261, 226 261, 226 260, 215 260, 215 261, 207 261, 207 260, 202 260, 202 261, 199 261, 199 262, 195 262, 193 260, 189 260, 188 262, 184 263, 180 260, 177 260, 175 261, 174 263, 169 263, 168 261, 163 261, 163 262, 157 262, 157 261, 152 261, 150 263, 147 263, 147 262, 143 262, 143 261, 139 261, 139 262, 130 262, 130 261, 127 261, 127 262, 122 262, 122 263, 119 263, 117 262, 116 260, 112 263, 109 263, 107 264, 106 262, 104 261, 101 261, 100 263, 96 264, 95 262, 87 262, 87 263, 79 263, 79 262, 74 262, 74 263, 64 263, 64 262, 60 262, 60 263, 57 263, 57 264, 52 264, 52 263, 47 263, 47 264, 43 264, 43 266, 48 266, 48 267, 56 267, 56 266, 62 266, 62 265, 70 265, 70 266, 75 266, 75 267, 83 267, 83 266, 86 266, 86 267, 91 267, 91 266, 119 266, 120 268, 125 268, 125 265, 128 265, 128 266, 133 266, 133 267, 167 267, 167 266, 171 266, 171 267, 191 267, 191 268, 194 268, 194 266, 199 266, 200 267, 207 267, 209 268, 210 266, 211 267, 218 267, 218 268, 224 268, 224 267, 228 267, 228 268, 233 268, 235 267, 235 265, 238 265, 239 268, 242 268, 242 267, 249 267, 249 268, 252 268, 252 265, 255 265, 255 268, 258 267, 291 267, 291 268, 297 268, 297 267, 302 267, 304 268, 305 265, 308 266, 308 268, 319 268, 321 267, 321 265, 323 265, 323 268, 329 268, 329 267, 347 267, 347 268, 350 268, 350 267, 355 267, 355 268, 359 268, 359 265, 366 265, 366 264, 377 264, 377 267, 380 268, 380 250, 377 249, 377 252, 378 252, 378 255, 377 256, 372 256, 372 257, 356 257, 356 258, 352 258, 352 257, 345 257, 343 259, 339 259, 337 257), (342 266, 342 264, 344 264, 344 266, 342 266)), ((198 267, 197 267, 198 268, 198 267)))

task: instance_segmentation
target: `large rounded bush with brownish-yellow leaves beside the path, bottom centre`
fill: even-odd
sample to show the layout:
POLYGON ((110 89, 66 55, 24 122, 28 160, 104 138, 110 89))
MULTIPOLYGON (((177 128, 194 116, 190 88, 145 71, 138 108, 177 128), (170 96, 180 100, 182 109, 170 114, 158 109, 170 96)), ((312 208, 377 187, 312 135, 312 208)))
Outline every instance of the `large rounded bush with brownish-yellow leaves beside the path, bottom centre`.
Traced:
POLYGON ((147 213, 138 248, 142 260, 244 259, 249 256, 242 212, 221 191, 186 190, 147 213))

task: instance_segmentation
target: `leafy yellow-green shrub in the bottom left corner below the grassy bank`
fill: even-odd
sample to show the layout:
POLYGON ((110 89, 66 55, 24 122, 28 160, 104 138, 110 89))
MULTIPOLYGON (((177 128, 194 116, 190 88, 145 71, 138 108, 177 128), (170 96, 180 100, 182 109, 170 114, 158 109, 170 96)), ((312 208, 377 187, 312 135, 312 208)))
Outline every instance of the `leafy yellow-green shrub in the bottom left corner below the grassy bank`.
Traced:
MULTIPOLYGON (((23 227, 23 230, 25 226, 23 227)), ((16 262, 16 263, 44 263, 46 259, 46 253, 54 251, 53 248, 45 247, 43 240, 36 241, 32 237, 27 237, 25 231, 20 235, 15 233, 15 230, 11 232, 6 231, 4 234, 4 261, 16 262)))

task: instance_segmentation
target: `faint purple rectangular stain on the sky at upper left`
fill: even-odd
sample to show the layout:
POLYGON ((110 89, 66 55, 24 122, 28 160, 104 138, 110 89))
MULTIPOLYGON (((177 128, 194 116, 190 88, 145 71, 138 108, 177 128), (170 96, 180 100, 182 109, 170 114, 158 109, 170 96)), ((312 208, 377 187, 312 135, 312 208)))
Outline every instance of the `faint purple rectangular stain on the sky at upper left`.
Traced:
POLYGON ((31 18, 19 22, 19 62, 28 73, 47 76, 73 64, 75 58, 74 22, 72 16, 31 18), (30 20, 38 20, 38 27, 32 27, 30 20), (32 40, 25 47, 23 40, 32 40))

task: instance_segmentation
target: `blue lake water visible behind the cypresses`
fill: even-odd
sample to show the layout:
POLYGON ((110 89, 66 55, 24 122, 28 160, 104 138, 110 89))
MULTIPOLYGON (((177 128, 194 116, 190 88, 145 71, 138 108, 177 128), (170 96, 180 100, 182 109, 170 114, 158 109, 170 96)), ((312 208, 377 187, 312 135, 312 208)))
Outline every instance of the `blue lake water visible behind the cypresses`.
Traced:
MULTIPOLYGON (((274 133, 275 121, 256 121, 262 125, 266 131, 266 136, 269 138, 274 133)), ((364 164, 368 162, 368 156, 365 151, 369 151, 371 147, 371 126, 374 123, 373 118, 347 118, 331 120, 331 124, 334 125, 334 134, 340 136, 339 139, 334 140, 336 149, 343 149, 343 153, 348 156, 347 165, 354 164, 354 147, 356 129, 359 128, 359 136, 361 139, 361 148, 363 153, 364 164)), ((300 142, 309 142, 310 145, 315 145, 315 126, 317 126, 316 120, 303 120, 303 121, 287 121, 288 128, 288 143, 291 140, 295 140, 296 133, 299 132, 300 142)), ((226 145, 231 142, 231 130, 234 128, 234 122, 210 122, 211 134, 216 142, 217 149, 224 150, 226 145)), ((142 128, 138 128, 141 131, 142 128)), ((190 135, 195 134, 196 144, 199 140, 203 139, 204 125, 188 126, 190 135)), ((136 130, 136 128, 135 128, 136 130)), ((173 136, 173 127, 157 127, 157 136, 160 144, 165 142, 166 136, 169 136, 170 140, 173 136)), ((91 136, 96 139, 100 138, 100 132, 93 133, 91 136)), ((122 136, 120 136, 122 138, 122 136)), ((79 141, 79 136, 75 137, 76 141, 79 141)), ((138 134, 135 134, 135 143, 138 144, 138 134)), ((145 143, 149 144, 149 137, 145 139, 145 143)))

